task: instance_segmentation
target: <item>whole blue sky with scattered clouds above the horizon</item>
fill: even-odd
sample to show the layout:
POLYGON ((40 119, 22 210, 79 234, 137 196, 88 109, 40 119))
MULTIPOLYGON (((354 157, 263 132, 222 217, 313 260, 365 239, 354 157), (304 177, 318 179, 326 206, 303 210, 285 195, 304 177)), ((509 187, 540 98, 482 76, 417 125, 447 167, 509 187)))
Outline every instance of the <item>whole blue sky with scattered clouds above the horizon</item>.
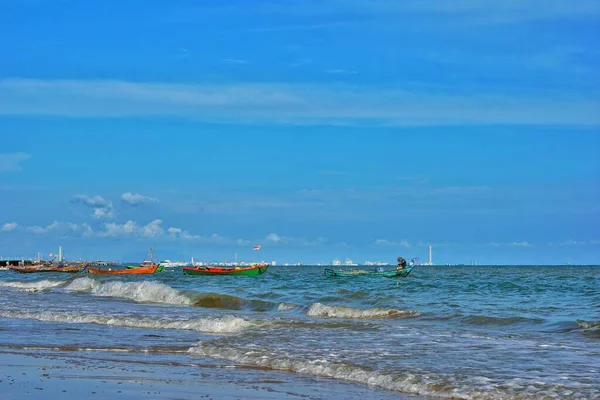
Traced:
POLYGON ((597 0, 1 0, 0 257, 600 264, 599 27, 597 0))

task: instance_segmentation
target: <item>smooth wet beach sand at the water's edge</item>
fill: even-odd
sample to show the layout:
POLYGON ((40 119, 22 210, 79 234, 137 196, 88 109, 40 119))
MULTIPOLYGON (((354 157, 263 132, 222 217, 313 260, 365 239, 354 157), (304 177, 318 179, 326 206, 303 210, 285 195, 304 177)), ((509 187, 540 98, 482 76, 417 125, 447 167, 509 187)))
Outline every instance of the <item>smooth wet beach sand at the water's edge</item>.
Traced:
POLYGON ((0 399, 415 399, 400 393, 253 367, 157 365, 106 354, 0 350, 0 399))

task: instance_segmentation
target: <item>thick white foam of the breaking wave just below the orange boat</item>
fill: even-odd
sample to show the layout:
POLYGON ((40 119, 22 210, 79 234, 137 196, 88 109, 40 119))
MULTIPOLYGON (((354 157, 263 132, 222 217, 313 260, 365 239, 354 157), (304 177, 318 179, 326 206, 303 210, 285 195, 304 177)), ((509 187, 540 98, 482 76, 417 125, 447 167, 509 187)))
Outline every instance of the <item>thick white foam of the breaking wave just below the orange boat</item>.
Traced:
POLYGON ((190 305, 193 300, 168 285, 152 282, 102 282, 90 278, 78 278, 65 287, 66 290, 90 292, 95 296, 117 297, 137 302, 190 305))

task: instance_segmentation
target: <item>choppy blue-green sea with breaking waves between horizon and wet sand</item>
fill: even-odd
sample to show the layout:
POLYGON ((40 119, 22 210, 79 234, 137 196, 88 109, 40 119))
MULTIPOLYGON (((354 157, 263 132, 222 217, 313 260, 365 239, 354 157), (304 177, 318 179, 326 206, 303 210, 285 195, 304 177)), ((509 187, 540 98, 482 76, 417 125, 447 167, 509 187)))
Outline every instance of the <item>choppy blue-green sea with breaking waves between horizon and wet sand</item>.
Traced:
POLYGON ((323 272, 0 271, 0 352, 187 366, 182 374, 208 364, 236 379, 259 370, 368 388, 363 398, 600 398, 598 266, 323 272))

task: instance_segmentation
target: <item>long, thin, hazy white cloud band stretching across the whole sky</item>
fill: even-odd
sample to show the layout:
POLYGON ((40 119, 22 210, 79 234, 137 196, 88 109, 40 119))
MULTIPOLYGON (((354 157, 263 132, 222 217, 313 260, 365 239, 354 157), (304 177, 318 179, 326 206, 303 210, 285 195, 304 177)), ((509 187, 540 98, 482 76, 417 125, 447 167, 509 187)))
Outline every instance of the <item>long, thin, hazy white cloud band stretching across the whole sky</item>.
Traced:
POLYGON ((274 124, 599 125, 593 97, 564 90, 468 93, 342 84, 168 84, 106 80, 0 80, 0 115, 169 115, 274 124))

